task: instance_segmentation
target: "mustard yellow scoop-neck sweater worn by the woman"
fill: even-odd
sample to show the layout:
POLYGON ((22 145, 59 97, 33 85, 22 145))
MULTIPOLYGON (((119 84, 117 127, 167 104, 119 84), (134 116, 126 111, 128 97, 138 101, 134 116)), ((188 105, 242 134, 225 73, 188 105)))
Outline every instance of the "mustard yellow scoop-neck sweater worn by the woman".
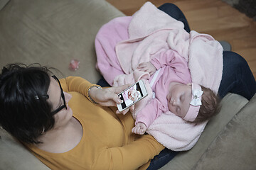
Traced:
POLYGON ((29 145, 50 169, 146 169, 149 160, 164 147, 150 135, 134 135, 130 113, 115 114, 116 108, 96 106, 88 100, 90 82, 80 77, 61 79, 63 91, 72 94, 68 105, 83 130, 82 140, 68 152, 54 154, 29 145))

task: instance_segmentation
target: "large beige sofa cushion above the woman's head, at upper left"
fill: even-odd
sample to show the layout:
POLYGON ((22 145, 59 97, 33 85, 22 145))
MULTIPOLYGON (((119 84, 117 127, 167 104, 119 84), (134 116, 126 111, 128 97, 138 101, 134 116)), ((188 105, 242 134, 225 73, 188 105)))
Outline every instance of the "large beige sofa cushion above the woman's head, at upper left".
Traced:
POLYGON ((95 83, 95 35, 117 16, 124 14, 103 0, 11 0, 0 11, 0 68, 38 62, 59 69, 59 78, 95 83), (80 61, 76 72, 68 69, 73 59, 80 61))

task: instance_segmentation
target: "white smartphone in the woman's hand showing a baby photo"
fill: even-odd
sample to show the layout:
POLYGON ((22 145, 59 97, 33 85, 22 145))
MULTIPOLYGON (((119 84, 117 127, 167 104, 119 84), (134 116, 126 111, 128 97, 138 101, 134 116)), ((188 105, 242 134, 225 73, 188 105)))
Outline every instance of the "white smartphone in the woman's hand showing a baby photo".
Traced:
POLYGON ((137 83, 132 84, 127 89, 118 94, 119 98, 122 100, 121 104, 117 104, 119 112, 124 111, 130 106, 134 105, 137 101, 142 100, 148 94, 146 92, 145 84, 142 80, 137 81, 137 83))

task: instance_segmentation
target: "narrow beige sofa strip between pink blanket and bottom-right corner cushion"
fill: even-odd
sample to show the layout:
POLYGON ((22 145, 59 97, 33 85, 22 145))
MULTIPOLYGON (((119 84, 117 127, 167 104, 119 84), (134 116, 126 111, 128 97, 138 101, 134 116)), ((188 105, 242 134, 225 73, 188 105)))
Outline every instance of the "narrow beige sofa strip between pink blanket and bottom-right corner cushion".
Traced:
POLYGON ((196 165, 202 154, 206 152, 211 142, 218 136, 240 109, 245 106, 247 99, 237 94, 228 94, 221 101, 222 108, 220 113, 212 118, 206 125, 201 137, 196 145, 189 151, 180 152, 171 159, 161 170, 177 169, 190 170, 196 165))

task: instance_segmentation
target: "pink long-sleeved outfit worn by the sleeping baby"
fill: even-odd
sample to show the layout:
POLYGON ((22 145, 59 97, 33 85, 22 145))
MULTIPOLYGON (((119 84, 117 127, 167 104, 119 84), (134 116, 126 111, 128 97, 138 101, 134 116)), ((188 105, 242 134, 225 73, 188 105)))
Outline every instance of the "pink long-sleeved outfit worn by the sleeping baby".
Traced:
MULTIPOLYGON (((160 69, 154 84, 152 84, 155 98, 151 99, 151 101, 137 113, 135 123, 142 122, 146 125, 146 128, 148 128, 161 113, 169 111, 166 98, 166 95, 169 94, 169 84, 171 82, 181 84, 191 83, 188 62, 178 55, 176 51, 166 50, 160 52, 158 55, 154 56, 150 62, 156 69, 160 69)), ((149 79, 149 81, 151 81, 151 79, 149 79)))

